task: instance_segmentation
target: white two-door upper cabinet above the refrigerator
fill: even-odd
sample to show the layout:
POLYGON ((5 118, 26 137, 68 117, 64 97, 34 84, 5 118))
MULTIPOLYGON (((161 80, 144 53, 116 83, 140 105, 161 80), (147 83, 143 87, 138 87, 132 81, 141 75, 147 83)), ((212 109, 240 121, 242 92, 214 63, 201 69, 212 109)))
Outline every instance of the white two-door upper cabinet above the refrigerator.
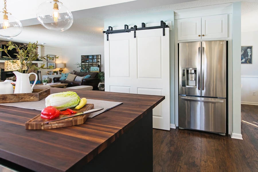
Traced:
POLYGON ((228 15, 211 15, 177 20, 177 40, 228 37, 228 15))

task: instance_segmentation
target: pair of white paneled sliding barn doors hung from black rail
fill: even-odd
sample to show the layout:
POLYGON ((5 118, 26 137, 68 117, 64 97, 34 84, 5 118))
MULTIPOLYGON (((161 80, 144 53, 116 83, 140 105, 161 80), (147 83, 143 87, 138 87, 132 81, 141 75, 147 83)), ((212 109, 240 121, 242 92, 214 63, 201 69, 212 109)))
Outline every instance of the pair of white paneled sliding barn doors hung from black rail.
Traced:
POLYGON ((153 128, 170 130, 169 28, 105 34, 105 91, 165 95, 153 128))

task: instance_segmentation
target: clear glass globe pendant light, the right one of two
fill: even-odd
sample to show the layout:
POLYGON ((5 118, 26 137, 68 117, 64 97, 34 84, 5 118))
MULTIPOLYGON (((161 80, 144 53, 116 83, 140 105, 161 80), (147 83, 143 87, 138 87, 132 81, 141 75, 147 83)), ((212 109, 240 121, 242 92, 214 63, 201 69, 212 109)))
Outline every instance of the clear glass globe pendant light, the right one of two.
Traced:
POLYGON ((43 2, 38 6, 37 19, 45 28, 55 31, 65 31, 73 24, 71 11, 58 0, 43 2))

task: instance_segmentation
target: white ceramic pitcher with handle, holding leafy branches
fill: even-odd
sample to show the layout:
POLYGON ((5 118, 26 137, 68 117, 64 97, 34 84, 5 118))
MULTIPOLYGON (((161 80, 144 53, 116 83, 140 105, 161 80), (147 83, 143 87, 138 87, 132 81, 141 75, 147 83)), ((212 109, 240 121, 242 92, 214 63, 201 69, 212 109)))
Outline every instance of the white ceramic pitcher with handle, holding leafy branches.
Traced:
POLYGON ((36 73, 19 73, 18 71, 13 71, 16 76, 16 84, 14 93, 32 93, 33 87, 38 80, 38 75, 36 73), (29 76, 33 74, 36 76, 36 79, 32 86, 30 86, 29 76))

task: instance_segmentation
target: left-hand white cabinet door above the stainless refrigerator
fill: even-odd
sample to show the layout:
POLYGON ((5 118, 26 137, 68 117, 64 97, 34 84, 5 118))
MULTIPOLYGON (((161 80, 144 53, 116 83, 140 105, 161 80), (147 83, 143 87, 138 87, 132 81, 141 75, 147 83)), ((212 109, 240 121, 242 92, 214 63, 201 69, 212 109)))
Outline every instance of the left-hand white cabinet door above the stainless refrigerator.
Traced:
POLYGON ((178 40, 201 39, 201 17, 177 20, 178 40))

